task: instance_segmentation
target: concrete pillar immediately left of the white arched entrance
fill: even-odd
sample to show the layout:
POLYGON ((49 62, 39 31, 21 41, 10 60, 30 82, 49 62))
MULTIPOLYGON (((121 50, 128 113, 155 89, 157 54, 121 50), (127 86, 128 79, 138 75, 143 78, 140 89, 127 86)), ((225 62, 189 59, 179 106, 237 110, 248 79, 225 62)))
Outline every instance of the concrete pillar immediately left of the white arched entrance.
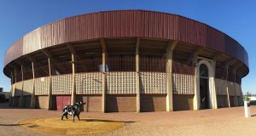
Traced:
POLYGON ((198 99, 198 96, 199 96, 199 87, 198 87, 198 82, 199 82, 199 77, 197 76, 197 54, 195 54, 193 56, 193 60, 192 60, 192 65, 194 66, 194 88, 195 88, 195 95, 194 95, 194 99, 193 99, 193 108, 194 110, 199 110, 199 106, 200 106, 200 103, 199 103, 199 99, 198 99))

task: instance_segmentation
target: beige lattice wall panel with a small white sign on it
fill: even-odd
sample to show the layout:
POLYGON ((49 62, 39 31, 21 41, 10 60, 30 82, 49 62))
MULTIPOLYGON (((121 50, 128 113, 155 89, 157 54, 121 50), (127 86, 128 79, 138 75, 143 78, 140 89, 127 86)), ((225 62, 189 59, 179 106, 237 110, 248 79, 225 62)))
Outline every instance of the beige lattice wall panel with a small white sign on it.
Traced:
POLYGON ((49 94, 49 77, 35 78, 35 95, 49 94))

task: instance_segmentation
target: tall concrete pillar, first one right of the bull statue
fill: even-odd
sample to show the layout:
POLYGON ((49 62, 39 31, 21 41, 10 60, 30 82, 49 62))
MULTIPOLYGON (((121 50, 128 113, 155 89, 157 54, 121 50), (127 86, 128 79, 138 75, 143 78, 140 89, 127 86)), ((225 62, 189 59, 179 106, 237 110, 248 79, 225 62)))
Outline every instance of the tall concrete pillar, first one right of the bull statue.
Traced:
POLYGON ((106 111, 106 43, 102 42, 102 112, 106 111))

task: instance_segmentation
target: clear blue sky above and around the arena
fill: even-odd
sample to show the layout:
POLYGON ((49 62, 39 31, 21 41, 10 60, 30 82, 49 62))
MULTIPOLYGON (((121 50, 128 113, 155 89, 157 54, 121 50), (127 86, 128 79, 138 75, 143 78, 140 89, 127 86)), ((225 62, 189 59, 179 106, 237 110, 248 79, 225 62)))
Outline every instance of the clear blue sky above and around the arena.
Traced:
POLYGON ((1 0, 0 1, 0 87, 9 91, 3 75, 3 56, 17 39, 39 26, 76 14, 115 9, 147 9, 199 20, 224 31, 246 48, 250 72, 242 79, 243 92, 256 94, 256 1, 238 0, 1 0))

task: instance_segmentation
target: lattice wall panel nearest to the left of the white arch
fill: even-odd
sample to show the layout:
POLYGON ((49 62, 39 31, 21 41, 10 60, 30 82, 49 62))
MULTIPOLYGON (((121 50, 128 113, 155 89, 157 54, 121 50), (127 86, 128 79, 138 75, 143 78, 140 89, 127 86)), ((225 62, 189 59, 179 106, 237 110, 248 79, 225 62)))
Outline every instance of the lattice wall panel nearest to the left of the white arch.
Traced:
POLYGON ((195 78, 192 75, 172 73, 173 94, 195 94, 195 78))

